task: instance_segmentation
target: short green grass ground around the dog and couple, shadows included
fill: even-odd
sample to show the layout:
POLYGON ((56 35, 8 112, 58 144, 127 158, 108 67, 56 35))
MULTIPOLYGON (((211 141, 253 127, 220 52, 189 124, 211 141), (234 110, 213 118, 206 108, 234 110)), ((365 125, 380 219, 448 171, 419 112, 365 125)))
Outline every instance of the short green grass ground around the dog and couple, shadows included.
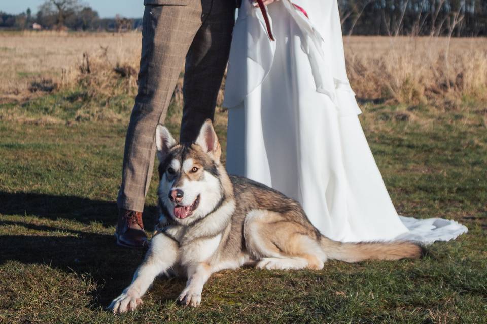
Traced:
MULTIPOLYGON (((123 91, 129 80, 108 82, 112 92, 95 91, 98 81, 83 76, 0 103, 0 322, 487 322, 487 102, 471 96, 444 108, 363 99, 360 117, 398 212, 456 219, 468 234, 429 246, 420 260, 223 271, 197 309, 175 302, 184 281, 160 278, 136 312, 105 311, 143 252, 112 236, 133 93, 123 91)), ((217 111, 225 144, 226 112, 217 111)), ((174 133, 180 115, 175 100, 174 133)))

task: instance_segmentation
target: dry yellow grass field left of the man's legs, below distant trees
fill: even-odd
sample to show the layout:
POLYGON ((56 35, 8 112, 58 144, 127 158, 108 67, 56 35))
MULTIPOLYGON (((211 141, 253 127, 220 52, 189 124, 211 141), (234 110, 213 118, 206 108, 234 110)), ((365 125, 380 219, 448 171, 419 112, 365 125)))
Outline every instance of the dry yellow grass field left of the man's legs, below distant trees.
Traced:
POLYGON ((32 82, 73 82, 85 52, 108 68, 127 61, 138 65, 141 38, 140 33, 0 33, 0 102, 32 96, 32 82))

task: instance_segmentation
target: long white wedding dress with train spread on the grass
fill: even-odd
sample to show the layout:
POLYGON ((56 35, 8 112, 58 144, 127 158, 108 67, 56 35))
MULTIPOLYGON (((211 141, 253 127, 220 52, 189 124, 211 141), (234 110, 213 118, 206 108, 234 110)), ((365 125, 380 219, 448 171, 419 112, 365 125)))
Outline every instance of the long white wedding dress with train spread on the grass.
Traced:
POLYGON ((297 199, 324 235, 343 242, 465 233, 455 221, 398 216, 362 131, 345 70, 336 0, 289 0, 263 15, 243 0, 224 106, 227 170, 297 199))

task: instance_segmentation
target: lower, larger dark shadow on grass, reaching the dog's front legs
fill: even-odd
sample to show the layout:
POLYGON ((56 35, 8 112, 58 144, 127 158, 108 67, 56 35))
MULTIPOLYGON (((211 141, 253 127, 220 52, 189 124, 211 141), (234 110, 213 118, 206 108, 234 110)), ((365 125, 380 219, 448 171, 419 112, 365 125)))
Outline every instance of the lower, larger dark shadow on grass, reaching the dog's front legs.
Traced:
MULTIPOLYGON (((0 226, 5 225, 52 232, 60 230, 24 222, 0 221, 0 226)), ((144 258, 145 251, 118 247, 111 235, 65 229, 62 232, 66 236, 0 236, 0 246, 2 246, 0 265, 8 261, 42 264, 68 274, 75 273, 85 281, 92 279, 96 286, 89 292, 92 301, 88 307, 105 308, 130 283, 135 269, 144 258)), ((160 292, 158 297, 163 297, 157 298, 157 302, 176 300, 184 288, 182 279, 158 279, 157 281, 155 286, 160 292)))

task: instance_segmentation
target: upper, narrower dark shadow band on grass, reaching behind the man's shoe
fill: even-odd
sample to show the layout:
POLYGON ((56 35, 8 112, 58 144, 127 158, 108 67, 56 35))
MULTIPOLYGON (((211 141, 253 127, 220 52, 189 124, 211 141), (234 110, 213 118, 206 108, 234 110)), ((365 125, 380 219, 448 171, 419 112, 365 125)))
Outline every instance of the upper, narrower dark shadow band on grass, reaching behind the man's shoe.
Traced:
MULTIPOLYGON (((117 204, 115 201, 91 200, 76 196, 54 196, 25 192, 1 192, 0 214, 32 215, 48 219, 71 219, 84 224, 100 222, 103 226, 113 226, 117 222, 117 204)), ((157 208, 147 206, 144 209, 146 230, 153 231, 157 208)))

